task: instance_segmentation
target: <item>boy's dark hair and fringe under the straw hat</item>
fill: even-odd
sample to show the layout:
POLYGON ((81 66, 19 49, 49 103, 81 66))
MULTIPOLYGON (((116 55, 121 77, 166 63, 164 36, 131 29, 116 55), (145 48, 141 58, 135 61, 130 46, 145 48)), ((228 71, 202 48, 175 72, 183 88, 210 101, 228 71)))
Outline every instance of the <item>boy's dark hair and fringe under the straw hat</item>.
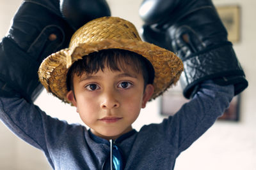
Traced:
POLYGON ((128 50, 108 49, 90 53, 83 59, 74 62, 67 73, 67 90, 74 91, 73 78, 75 73, 77 76, 81 76, 83 73, 97 73, 99 69, 103 71, 105 64, 111 71, 125 70, 126 65, 132 66, 135 71, 142 73, 144 89, 147 84, 152 84, 154 81, 154 68, 145 57, 128 50))

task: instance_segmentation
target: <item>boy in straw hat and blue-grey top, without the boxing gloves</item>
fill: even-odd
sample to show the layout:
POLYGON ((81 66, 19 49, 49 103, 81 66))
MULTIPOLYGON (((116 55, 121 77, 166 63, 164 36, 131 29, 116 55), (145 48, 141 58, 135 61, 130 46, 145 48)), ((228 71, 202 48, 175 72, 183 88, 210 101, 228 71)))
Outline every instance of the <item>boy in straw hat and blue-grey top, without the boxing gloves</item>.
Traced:
POLYGON ((176 55, 141 41, 130 22, 98 18, 76 31, 69 48, 47 57, 38 71, 45 88, 76 106, 90 129, 51 118, 19 95, 1 95, 1 119, 43 150, 53 169, 111 169, 112 163, 115 169, 172 169, 179 153, 234 96, 233 85, 205 81, 174 117, 133 130, 140 108, 176 83, 181 71, 176 55))

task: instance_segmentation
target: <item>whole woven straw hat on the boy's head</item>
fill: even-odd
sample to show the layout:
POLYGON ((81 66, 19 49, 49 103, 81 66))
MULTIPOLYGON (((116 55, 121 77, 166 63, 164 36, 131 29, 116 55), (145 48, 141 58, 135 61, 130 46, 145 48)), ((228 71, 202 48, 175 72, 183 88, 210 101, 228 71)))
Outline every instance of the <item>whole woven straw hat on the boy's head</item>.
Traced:
POLYGON ((141 41, 131 22, 118 17, 102 17, 78 29, 68 48, 49 55, 39 68, 39 79, 48 92, 65 103, 70 103, 66 97, 70 66, 84 55, 111 48, 138 53, 151 62, 155 70, 154 94, 151 99, 175 84, 183 71, 179 57, 164 48, 141 41))

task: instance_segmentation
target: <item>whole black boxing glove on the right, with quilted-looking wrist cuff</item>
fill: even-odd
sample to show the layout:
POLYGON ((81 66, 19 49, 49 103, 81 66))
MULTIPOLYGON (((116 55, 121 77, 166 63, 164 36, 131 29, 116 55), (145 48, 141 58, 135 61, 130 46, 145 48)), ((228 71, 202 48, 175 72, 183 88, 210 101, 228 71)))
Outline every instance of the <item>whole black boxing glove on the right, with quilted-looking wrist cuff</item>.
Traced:
POLYGON ((233 84, 235 95, 248 86, 211 0, 144 0, 140 17, 145 21, 143 39, 172 50, 182 59, 180 84, 186 98, 205 80, 233 84))

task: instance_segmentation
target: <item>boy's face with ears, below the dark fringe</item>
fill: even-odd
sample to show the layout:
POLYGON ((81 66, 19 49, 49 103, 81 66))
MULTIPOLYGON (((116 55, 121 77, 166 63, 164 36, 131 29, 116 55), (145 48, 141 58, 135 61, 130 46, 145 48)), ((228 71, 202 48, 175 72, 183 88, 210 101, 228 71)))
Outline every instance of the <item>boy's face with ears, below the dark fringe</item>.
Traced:
POLYGON ((93 74, 74 74, 73 83, 76 99, 72 91, 67 98, 93 134, 105 139, 116 139, 131 131, 132 123, 154 92, 153 85, 147 85, 144 91, 142 73, 131 66, 125 71, 105 67, 93 74))

